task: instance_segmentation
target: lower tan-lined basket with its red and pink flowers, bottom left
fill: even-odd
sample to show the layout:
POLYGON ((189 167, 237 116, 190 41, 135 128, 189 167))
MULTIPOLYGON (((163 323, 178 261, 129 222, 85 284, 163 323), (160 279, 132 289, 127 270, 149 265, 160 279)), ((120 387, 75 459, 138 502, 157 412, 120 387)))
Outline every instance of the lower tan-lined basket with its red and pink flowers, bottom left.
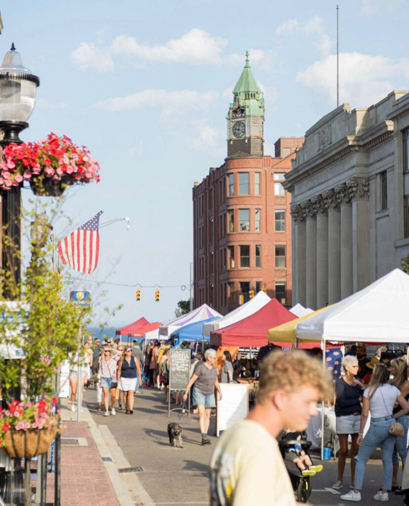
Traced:
POLYGON ((55 397, 51 403, 13 401, 0 414, 0 447, 13 458, 46 452, 59 431, 56 406, 55 397))

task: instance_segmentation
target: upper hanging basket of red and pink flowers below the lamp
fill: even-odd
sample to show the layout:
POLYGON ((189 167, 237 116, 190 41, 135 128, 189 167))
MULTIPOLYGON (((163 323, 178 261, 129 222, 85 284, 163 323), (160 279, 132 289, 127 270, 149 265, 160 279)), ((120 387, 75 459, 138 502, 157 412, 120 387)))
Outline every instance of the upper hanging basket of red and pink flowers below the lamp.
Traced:
POLYGON ((99 164, 85 146, 65 135, 49 134, 40 142, 9 144, 0 163, 0 188, 10 190, 30 183, 35 195, 59 196, 66 186, 99 181, 99 164))

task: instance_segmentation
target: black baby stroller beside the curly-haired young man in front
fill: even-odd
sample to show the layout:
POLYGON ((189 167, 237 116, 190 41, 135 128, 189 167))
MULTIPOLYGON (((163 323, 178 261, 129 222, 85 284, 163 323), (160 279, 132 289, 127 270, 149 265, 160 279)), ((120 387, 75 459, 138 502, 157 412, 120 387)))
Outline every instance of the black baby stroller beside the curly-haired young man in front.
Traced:
MULTIPOLYGON (((301 448, 307 455, 311 442, 306 440, 305 432, 302 433, 301 439, 296 439, 299 433, 289 433, 278 440, 280 452, 283 456, 287 472, 290 476, 291 485, 297 495, 297 500, 300 502, 307 502, 311 495, 312 479, 311 476, 304 476, 295 462, 285 458, 286 452, 289 448, 293 448, 296 444, 301 445, 301 448)), ((310 455, 309 455, 310 456, 310 455)), ((310 457, 311 458, 311 457, 310 457)), ((311 460, 312 462, 312 460, 311 460)))

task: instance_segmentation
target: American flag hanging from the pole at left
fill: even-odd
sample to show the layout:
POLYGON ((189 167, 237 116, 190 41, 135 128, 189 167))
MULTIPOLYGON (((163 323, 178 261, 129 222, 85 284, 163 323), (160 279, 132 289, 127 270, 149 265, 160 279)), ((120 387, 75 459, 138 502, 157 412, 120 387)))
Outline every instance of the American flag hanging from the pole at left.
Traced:
POLYGON ((98 227, 103 211, 57 244, 60 258, 65 265, 79 272, 90 274, 97 268, 100 249, 98 227))

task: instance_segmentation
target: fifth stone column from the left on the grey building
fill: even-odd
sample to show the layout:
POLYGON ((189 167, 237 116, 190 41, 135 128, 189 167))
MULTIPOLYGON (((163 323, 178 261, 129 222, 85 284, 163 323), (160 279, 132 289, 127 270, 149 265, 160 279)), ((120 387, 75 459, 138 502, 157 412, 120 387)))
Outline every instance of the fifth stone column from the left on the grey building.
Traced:
POLYGON ((352 284, 352 204, 345 183, 335 187, 341 208, 341 299, 353 293, 352 284))

